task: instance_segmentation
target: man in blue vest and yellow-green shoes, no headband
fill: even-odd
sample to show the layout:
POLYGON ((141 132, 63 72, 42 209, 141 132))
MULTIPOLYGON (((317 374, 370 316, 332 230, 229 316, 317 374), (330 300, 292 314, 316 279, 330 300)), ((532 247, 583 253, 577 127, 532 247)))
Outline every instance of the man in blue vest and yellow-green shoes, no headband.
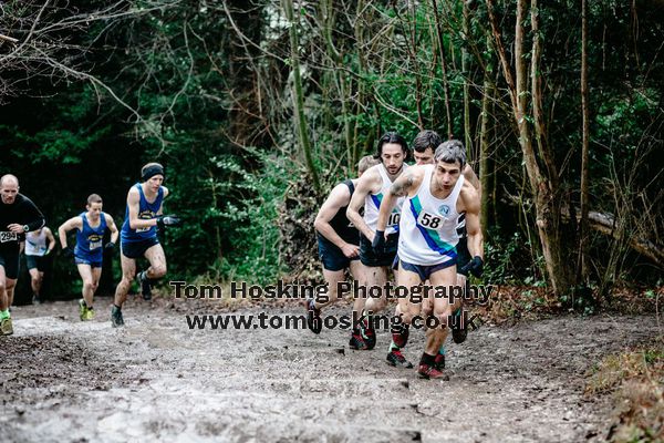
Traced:
POLYGON ((60 246, 65 256, 74 256, 74 262, 83 280, 83 298, 79 300, 81 321, 94 318, 94 292, 102 277, 104 249, 113 250, 117 241, 117 227, 111 215, 102 212, 103 200, 98 194, 87 197, 85 212, 70 218, 58 228, 60 246), (66 233, 76 230, 76 246, 68 245, 66 233), (104 234, 111 231, 111 241, 104 245, 104 234))

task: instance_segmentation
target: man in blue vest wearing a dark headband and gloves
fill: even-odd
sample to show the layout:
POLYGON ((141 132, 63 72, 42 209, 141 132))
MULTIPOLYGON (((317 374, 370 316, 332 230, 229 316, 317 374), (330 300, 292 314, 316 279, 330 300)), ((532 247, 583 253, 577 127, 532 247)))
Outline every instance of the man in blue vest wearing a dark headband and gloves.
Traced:
POLYGON ((141 169, 141 183, 127 193, 127 207, 120 237, 122 280, 115 288, 115 300, 111 308, 111 323, 114 328, 124 326, 122 305, 127 299, 132 281, 136 275, 136 259, 145 257, 149 267, 138 274, 141 293, 145 300, 152 299, 152 286, 166 275, 166 256, 157 238, 157 227, 177 226, 180 220, 175 215, 163 215, 163 203, 168 188, 163 186, 164 166, 148 163, 141 169))

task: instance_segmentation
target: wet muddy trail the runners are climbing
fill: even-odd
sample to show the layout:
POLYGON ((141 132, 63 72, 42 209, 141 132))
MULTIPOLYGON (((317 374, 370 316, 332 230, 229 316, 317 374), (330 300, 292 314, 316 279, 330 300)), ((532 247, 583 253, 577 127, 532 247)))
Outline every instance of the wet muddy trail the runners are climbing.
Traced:
MULTIPOLYGON (((13 309, 14 334, 0 338, 3 441, 600 441, 609 399, 583 398, 584 372, 660 333, 654 317, 606 315, 484 326, 448 346, 449 381, 430 381, 385 364, 388 331, 353 351, 340 329, 190 330, 187 312, 212 309, 165 299, 131 300, 112 329, 110 302, 89 322, 75 301, 13 309)), ((411 334, 414 362, 423 337, 411 334)))

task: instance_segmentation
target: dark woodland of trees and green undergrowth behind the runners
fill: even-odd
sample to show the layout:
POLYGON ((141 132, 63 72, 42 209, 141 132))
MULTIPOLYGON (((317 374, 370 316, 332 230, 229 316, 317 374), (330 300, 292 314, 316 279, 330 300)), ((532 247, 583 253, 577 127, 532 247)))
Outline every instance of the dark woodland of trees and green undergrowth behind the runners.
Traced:
POLYGON ((55 230, 91 193, 122 224, 162 162, 172 279, 320 279, 326 193, 433 128, 481 179, 485 282, 585 311, 664 284, 662 0, 3 1, 0 34, 0 172, 55 230))

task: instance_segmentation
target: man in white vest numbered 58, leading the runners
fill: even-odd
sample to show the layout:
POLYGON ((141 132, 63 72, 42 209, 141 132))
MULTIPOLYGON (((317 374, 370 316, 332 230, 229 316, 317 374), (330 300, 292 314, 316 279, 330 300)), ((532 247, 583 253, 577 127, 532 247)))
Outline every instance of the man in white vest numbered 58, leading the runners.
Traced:
MULTIPOLYGON (((464 271, 480 276, 483 271, 484 246, 479 225, 479 195, 461 172, 466 166, 466 153, 458 141, 448 141, 436 148, 435 165, 414 166, 397 178, 383 199, 376 226, 376 236, 372 246, 376 251, 384 249, 385 227, 392 208, 401 198, 406 198, 400 224, 397 285, 418 287, 429 279, 436 288, 452 290, 456 286, 456 265, 459 240, 458 217, 466 214, 468 250, 474 258, 464 266, 464 271)), ((422 309, 419 301, 400 298, 398 308, 402 320, 409 324, 422 309)), ((447 320, 453 309, 448 298, 434 298, 434 316, 440 327, 428 329, 426 344, 419 361, 418 374, 422 378, 444 378, 436 368, 435 359, 440 346, 447 338, 447 320)), ((393 330, 390 353, 400 352, 405 346, 402 330, 393 330)), ((388 354, 390 360, 390 354, 388 354)), ((404 365, 407 367, 407 365, 404 365)))

